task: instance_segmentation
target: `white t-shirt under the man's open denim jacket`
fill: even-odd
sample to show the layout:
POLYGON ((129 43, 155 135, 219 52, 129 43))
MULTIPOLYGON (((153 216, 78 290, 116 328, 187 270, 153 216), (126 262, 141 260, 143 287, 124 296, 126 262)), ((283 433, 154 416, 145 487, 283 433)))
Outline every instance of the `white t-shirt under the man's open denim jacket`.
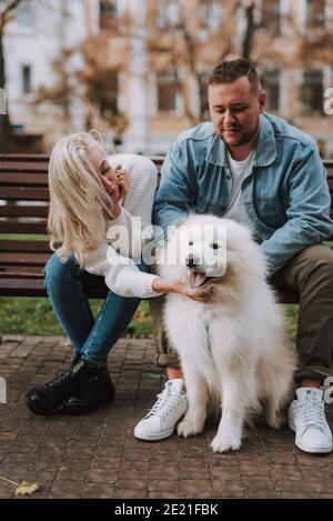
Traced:
POLYGON ((229 152, 226 152, 229 167, 230 167, 231 176, 232 176, 232 193, 231 193, 231 202, 229 207, 226 208, 225 213, 223 216, 225 219, 232 219, 241 224, 246 224, 251 228, 252 228, 252 223, 245 209, 241 187, 242 187, 242 182, 245 177, 245 173, 252 163, 253 152, 254 151, 252 150, 250 156, 248 156, 248 158, 244 159, 243 161, 236 161, 230 156, 229 152))

